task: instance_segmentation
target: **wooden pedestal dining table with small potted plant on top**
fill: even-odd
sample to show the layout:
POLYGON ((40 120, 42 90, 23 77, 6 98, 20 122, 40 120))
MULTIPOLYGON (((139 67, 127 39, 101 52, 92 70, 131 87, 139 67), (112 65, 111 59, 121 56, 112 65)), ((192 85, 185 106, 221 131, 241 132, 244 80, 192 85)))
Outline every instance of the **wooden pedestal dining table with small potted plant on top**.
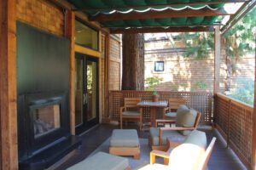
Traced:
MULTIPOLYGON (((138 107, 149 107, 150 108, 150 126, 155 127, 155 116, 156 116, 156 109, 157 108, 166 108, 168 105, 168 102, 166 100, 162 101, 147 101, 143 100, 139 103, 137 103, 138 107)), ((162 114, 160 112, 160 114, 162 114)))

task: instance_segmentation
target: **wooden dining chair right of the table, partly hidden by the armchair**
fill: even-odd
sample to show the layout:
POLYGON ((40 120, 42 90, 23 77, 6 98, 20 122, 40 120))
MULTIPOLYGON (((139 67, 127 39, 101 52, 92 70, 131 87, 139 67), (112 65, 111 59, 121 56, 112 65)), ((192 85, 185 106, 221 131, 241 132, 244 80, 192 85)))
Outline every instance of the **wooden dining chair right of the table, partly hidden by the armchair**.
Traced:
POLYGON ((164 119, 175 119, 177 116, 177 108, 179 105, 185 105, 186 100, 182 98, 170 98, 168 107, 164 111, 164 119))

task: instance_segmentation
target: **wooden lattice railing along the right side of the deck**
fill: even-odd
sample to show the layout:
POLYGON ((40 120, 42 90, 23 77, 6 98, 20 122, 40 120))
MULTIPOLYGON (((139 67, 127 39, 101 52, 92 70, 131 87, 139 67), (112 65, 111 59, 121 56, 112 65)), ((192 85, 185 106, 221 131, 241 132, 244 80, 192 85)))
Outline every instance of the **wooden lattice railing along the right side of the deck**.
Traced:
POLYGON ((217 94, 214 101, 214 122, 218 131, 241 161, 247 167, 251 167, 253 162, 253 106, 223 94, 217 94))

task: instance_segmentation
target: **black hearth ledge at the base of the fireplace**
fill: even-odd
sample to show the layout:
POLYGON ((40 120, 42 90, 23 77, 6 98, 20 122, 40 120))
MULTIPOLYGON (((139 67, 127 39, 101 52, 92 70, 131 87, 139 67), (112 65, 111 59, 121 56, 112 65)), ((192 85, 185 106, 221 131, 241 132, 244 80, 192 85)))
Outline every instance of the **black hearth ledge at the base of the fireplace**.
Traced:
POLYGON ((78 136, 70 136, 58 144, 53 145, 47 150, 32 156, 26 161, 19 162, 20 170, 43 170, 52 166, 55 162, 61 160, 68 153, 77 149, 82 144, 78 136))

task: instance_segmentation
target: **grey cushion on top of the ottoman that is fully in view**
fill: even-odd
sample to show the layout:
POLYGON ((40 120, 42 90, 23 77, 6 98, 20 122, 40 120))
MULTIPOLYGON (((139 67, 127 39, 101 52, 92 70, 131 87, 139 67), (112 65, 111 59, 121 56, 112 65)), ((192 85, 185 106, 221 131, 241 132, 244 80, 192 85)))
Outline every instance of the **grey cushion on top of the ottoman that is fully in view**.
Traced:
POLYGON ((112 147, 137 147, 139 139, 135 129, 114 129, 110 146, 112 147))

